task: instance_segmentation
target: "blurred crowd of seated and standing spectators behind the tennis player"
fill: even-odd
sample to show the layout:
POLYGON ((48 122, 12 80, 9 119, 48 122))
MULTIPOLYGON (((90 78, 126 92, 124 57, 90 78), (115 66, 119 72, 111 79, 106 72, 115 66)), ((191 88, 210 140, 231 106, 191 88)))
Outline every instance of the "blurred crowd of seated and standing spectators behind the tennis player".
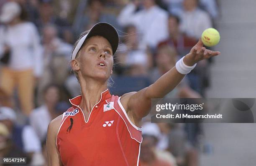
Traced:
MULTIPOLYGON (((216 0, 0 0, 0 157, 47 165, 47 126, 80 94, 69 65, 80 33, 97 22, 117 28, 109 88, 122 95, 174 67, 215 26, 218 8, 216 0)), ((205 96, 211 63, 198 63, 166 98, 205 96)), ((199 124, 144 121, 141 166, 198 165, 199 124)))

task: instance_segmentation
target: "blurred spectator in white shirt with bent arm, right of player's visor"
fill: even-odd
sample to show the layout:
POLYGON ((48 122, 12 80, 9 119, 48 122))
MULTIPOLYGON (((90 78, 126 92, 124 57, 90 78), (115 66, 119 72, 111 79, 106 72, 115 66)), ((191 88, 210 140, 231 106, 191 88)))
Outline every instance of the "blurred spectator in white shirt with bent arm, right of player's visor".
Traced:
POLYGON ((118 16, 118 22, 122 26, 129 24, 136 25, 141 33, 141 43, 150 48, 168 36, 167 12, 156 5, 155 0, 143 0, 144 9, 136 11, 139 7, 138 1, 133 1, 123 8, 118 16))

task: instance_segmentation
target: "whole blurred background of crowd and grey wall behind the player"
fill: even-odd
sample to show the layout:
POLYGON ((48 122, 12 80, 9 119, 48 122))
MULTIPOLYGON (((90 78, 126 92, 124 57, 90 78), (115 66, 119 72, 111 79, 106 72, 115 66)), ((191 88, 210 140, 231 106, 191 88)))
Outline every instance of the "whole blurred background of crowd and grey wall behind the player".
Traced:
MULTIPOLYGON (((255 98, 255 8, 255 0, 0 0, 0 157, 47 166, 47 126, 80 94, 73 45, 97 22, 120 35, 112 94, 154 83, 214 27, 221 40, 211 49, 222 55, 200 61, 166 98, 255 98)), ((141 166, 255 166, 253 123, 143 121, 141 166)))

